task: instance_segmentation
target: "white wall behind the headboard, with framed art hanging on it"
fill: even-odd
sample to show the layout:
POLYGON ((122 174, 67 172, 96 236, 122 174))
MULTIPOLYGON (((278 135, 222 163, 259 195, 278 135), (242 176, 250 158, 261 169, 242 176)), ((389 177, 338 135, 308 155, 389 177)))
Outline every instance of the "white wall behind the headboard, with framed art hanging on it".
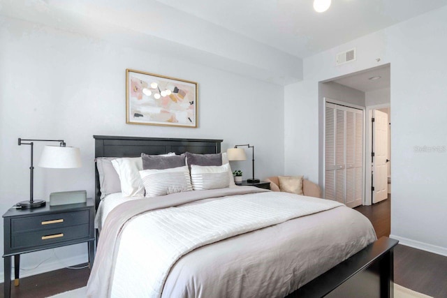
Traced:
MULTIPOLYGON (((216 138, 223 139, 223 150, 250 143, 256 146, 256 177, 284 171, 283 87, 8 17, 0 17, 0 45, 2 212, 29 199, 30 148, 17 146, 18 137, 64 139, 81 150, 80 169, 36 167, 36 199, 79 189, 94 196, 92 135, 216 138), (126 68, 198 82, 198 128, 126 124, 126 68)), ((44 144, 35 144, 36 163, 44 144)), ((251 161, 237 166, 251 175, 251 161)), ((50 259, 22 276, 85 262, 87 244, 54 253, 57 258, 52 251, 23 255, 22 268, 50 259)), ((3 262, 0 272, 2 278, 3 262)))

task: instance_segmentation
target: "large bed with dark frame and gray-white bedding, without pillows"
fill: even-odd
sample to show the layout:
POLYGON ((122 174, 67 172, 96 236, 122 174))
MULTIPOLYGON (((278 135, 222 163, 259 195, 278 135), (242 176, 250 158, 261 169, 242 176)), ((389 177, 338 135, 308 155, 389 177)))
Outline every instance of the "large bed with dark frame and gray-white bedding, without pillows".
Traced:
MULTIPOLYGON (((96 158, 221 151, 221 140, 94 138, 96 158)), ((297 202, 293 195, 241 186, 173 193, 150 199, 152 202, 142 198, 126 201, 119 194, 106 200, 109 198, 114 208, 99 206, 96 170, 96 206, 98 211, 108 210, 97 222, 104 230, 88 283, 91 297, 149 297, 152 293, 154 297, 393 297, 397 241, 376 240, 366 218, 336 202, 307 197, 297 202), (280 215, 272 214, 272 206, 282 208, 274 211, 280 215), (295 214, 298 209, 305 211, 295 214), (215 222, 217 229, 225 223, 221 229, 227 234, 205 231, 194 235, 200 229, 187 230, 182 216, 196 216, 200 210, 214 210, 203 225, 215 222), (265 214, 260 223, 261 211, 265 214), (242 212, 239 217, 235 216, 238 212, 242 212), (230 225, 228 214, 244 220, 251 214, 253 223, 236 220, 230 225), (162 232, 160 222, 169 223, 162 232), (342 228, 346 226, 349 229, 342 228), (171 244, 185 234, 192 236, 171 244), (154 247, 163 241, 169 245, 154 247), (175 258, 165 258, 170 250, 177 253, 175 258), (165 259, 170 260, 168 265, 165 259)))

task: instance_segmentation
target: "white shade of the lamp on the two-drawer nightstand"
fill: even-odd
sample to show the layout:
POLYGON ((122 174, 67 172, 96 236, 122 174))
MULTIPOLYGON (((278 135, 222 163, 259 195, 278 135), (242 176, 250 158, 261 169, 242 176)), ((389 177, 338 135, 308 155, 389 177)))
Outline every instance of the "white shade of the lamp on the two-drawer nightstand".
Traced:
POLYGON ((69 169, 81 167, 81 154, 76 147, 45 146, 43 148, 39 167, 54 169, 69 169))

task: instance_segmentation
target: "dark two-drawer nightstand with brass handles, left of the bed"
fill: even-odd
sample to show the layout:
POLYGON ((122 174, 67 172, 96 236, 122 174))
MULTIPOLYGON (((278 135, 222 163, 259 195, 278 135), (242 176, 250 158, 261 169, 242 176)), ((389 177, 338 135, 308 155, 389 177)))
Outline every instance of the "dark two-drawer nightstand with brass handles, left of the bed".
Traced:
POLYGON ((9 209, 3 214, 4 290, 10 297, 11 258, 14 256, 15 281, 19 285, 20 254, 88 242, 89 265, 94 262, 95 204, 91 198, 80 204, 35 209, 9 209))

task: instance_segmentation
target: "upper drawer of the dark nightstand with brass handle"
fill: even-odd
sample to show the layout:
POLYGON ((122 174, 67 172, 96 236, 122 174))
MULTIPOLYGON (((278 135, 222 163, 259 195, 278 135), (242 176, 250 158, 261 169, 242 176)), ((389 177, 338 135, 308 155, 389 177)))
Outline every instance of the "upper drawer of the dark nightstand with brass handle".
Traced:
POLYGON ((52 228, 64 228, 71 225, 89 223, 89 211, 61 212, 41 216, 29 216, 11 219, 11 232, 27 232, 36 230, 48 230, 52 228))

